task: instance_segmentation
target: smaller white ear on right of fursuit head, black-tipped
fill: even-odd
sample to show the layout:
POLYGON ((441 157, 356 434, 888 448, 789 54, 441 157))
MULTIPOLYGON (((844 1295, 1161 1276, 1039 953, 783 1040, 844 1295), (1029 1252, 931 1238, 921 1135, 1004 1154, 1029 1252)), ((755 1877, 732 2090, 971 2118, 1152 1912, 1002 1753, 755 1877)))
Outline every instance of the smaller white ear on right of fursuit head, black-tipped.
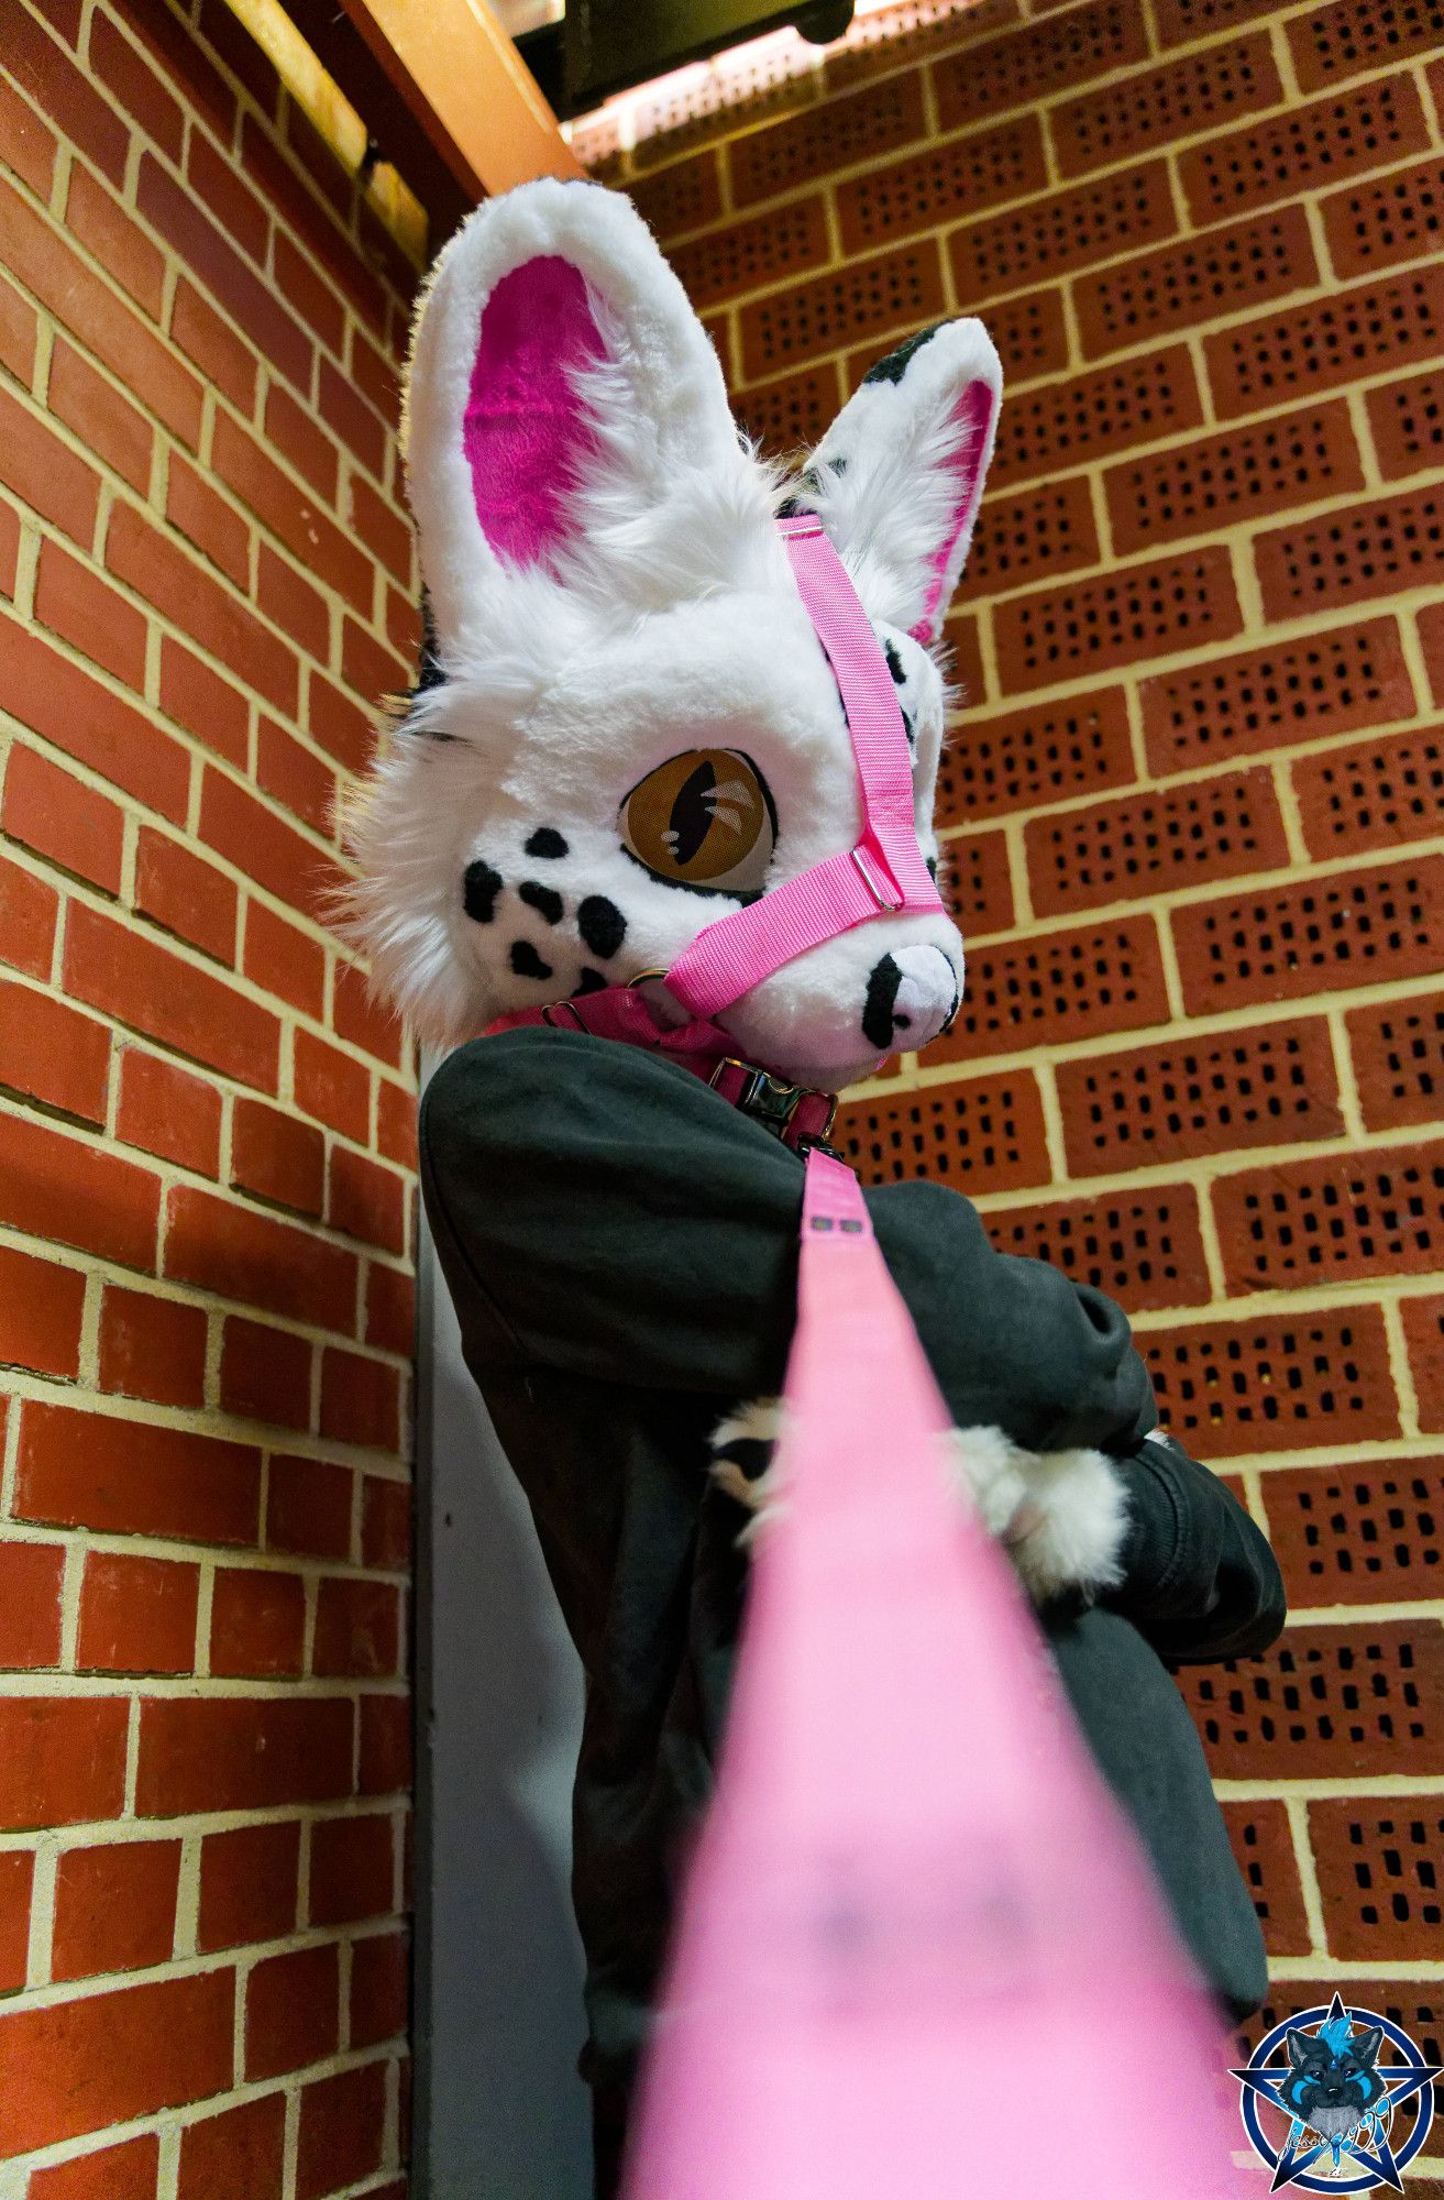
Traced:
POLYGON ((920 642, 969 554, 1002 389, 982 321, 925 328, 869 367, 801 477, 872 616, 920 642))

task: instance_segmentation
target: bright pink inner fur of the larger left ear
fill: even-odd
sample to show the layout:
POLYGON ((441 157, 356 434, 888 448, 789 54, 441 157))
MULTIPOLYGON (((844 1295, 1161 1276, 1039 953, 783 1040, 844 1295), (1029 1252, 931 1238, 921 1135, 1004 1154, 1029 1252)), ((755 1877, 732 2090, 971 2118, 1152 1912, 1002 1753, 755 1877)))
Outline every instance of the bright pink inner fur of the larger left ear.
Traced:
POLYGON ((462 447, 482 535, 511 565, 537 565, 566 541, 566 497, 592 447, 577 381, 601 356, 570 260, 526 260, 482 308, 462 447))

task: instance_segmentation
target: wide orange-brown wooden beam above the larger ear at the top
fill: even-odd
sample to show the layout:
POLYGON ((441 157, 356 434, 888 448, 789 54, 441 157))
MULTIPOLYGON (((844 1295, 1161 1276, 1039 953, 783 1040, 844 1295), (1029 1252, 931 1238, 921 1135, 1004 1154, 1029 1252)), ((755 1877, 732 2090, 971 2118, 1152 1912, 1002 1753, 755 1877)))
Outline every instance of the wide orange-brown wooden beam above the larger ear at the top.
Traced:
MULTIPOLYGON (((341 0, 469 198, 581 176, 557 117, 484 0, 341 0)), ((372 121, 381 136, 381 117, 372 121)))

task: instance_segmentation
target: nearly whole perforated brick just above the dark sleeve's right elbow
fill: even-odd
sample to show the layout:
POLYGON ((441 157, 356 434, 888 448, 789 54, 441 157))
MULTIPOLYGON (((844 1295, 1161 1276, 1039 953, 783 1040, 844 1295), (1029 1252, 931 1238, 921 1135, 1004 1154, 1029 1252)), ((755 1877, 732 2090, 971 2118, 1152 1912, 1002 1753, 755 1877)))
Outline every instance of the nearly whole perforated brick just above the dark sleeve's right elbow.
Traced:
POLYGON ((1149 1329, 1136 1344, 1164 1426, 1197 1459, 1400 1434, 1378 1307, 1149 1329))

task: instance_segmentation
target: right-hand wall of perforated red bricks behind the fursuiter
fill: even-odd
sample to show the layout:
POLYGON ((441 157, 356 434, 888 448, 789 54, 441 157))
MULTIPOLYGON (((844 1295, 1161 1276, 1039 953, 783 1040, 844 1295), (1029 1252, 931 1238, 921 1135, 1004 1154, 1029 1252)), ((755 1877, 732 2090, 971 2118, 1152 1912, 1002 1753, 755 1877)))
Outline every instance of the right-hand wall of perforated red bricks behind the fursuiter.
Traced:
POLYGON ((969 1001, 847 1129, 1134 1311, 1294 1602, 1189 1683, 1277 2002, 1347 1978, 1437 2055, 1444 11, 898 13, 766 112, 588 134, 768 444, 947 312, 1008 370, 951 620, 969 1001))

